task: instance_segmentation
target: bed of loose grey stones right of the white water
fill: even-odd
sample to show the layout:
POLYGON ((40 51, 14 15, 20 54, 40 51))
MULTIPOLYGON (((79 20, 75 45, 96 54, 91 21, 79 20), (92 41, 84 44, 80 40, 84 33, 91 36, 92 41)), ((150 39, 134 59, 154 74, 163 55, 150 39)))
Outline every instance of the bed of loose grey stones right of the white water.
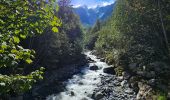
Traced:
POLYGON ((94 100, 136 100, 135 92, 127 80, 111 74, 100 76, 101 83, 97 84, 98 88, 92 96, 94 100))

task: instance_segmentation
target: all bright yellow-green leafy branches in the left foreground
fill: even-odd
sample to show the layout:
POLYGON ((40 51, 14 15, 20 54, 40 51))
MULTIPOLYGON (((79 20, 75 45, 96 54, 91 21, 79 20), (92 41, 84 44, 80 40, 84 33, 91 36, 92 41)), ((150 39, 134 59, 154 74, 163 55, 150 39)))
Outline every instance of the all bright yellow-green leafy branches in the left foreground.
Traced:
POLYGON ((42 0, 0 1, 0 69, 12 69, 6 75, 0 74, 0 95, 22 93, 37 79, 42 79, 42 68, 29 75, 17 72, 19 63, 31 64, 35 54, 34 50, 24 49, 20 42, 43 33, 50 23, 54 32, 58 32, 61 22, 54 15, 57 8, 55 0, 48 3, 42 0))

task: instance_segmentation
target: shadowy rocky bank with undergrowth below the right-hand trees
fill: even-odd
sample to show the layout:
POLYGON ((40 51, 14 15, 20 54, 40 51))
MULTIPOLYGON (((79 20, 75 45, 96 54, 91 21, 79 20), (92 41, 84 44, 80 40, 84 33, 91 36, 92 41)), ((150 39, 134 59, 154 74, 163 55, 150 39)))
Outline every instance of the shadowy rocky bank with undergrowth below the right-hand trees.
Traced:
MULTIPOLYGON (((118 51, 115 51, 115 55, 110 58, 95 50, 92 54, 114 66, 116 75, 127 80, 137 94, 137 100, 158 100, 160 98, 160 100, 169 100, 169 63, 154 61, 144 64, 141 69, 140 63, 129 63, 128 56, 120 56, 118 51)), ((144 60, 144 62, 146 61, 144 60)))

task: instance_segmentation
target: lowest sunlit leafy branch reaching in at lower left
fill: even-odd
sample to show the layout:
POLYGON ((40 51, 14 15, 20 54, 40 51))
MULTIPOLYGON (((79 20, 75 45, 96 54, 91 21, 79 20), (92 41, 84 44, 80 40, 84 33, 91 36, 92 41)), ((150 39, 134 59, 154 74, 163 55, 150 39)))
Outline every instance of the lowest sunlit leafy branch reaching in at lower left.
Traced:
POLYGON ((33 83, 39 79, 43 79, 41 76, 43 74, 42 69, 43 68, 41 68, 41 70, 36 70, 27 76, 20 74, 10 76, 0 74, 1 95, 7 95, 9 92, 23 93, 23 91, 31 89, 33 83))

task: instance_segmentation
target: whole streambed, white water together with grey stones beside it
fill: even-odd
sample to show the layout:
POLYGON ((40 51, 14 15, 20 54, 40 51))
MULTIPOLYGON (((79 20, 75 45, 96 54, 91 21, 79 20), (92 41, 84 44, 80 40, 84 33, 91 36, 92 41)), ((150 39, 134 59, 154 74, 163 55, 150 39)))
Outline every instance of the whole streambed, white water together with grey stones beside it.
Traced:
POLYGON ((112 66, 91 52, 85 54, 88 66, 63 82, 63 92, 49 95, 47 100, 135 100, 136 94, 124 77, 117 77, 112 66))

